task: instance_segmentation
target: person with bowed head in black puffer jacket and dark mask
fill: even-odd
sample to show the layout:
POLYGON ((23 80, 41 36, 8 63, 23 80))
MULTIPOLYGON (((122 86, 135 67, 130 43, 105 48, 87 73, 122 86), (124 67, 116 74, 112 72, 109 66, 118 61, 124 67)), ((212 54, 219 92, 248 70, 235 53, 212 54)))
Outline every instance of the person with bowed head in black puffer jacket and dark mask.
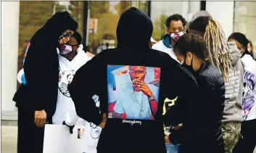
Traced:
MULTIPOLYGON (((183 62, 194 74, 199 85, 197 118, 194 119, 194 126, 197 126, 196 134, 191 139, 181 141, 182 151, 189 153, 222 153, 224 152, 223 136, 221 131, 221 119, 225 102, 225 84, 223 76, 217 67, 212 65, 209 54, 201 36, 188 33, 181 36, 174 46, 177 59, 183 62)), ((170 134, 182 133, 187 128, 183 127, 170 134), (182 131, 183 130, 183 131, 182 131)), ((181 135, 181 138, 186 134, 181 135)))

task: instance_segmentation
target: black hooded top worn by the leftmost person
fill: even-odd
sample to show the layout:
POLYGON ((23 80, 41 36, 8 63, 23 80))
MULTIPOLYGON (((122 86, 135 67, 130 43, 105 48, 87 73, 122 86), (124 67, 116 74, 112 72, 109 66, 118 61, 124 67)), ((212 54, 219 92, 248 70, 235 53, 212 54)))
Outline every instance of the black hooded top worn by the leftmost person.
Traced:
POLYGON ((22 84, 13 98, 19 109, 44 109, 48 118, 54 114, 59 78, 58 39, 65 30, 77 28, 78 23, 68 12, 57 12, 30 39, 23 66, 26 85, 22 84))

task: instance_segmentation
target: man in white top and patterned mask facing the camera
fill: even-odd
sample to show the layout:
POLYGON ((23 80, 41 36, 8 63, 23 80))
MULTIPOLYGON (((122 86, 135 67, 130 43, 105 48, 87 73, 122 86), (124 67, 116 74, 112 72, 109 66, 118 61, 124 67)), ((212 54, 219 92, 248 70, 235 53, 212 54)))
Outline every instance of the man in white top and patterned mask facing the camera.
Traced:
POLYGON ((178 38, 182 36, 186 31, 186 20, 181 15, 171 15, 166 19, 166 32, 163 36, 162 41, 158 41, 152 46, 152 49, 163 51, 170 55, 173 59, 178 59, 173 52, 173 46, 175 45, 178 38))

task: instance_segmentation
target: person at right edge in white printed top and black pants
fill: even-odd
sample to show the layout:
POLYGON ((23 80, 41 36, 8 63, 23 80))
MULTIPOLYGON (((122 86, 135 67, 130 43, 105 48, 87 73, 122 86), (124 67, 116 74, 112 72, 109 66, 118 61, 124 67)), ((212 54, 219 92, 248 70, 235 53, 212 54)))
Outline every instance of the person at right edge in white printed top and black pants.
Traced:
POLYGON ((248 39, 242 33, 232 33, 228 41, 234 41, 241 51, 241 63, 244 66, 244 96, 242 100, 243 122, 241 137, 234 153, 252 153, 256 146, 256 62, 247 50, 248 39))

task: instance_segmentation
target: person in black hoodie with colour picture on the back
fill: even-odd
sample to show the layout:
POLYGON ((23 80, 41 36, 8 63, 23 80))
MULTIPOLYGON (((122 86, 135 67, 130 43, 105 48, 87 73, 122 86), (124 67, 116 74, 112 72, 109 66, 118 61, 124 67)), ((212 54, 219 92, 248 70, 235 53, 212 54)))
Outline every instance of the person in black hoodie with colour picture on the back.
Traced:
POLYGON ((164 153, 164 100, 179 97, 170 113, 173 125, 181 123, 184 107, 194 109, 196 80, 168 54, 149 48, 152 30, 144 12, 125 11, 117 25, 117 49, 102 51, 80 67, 68 87, 78 116, 105 125, 99 153, 164 153), (101 113, 94 94, 101 97, 101 113))

